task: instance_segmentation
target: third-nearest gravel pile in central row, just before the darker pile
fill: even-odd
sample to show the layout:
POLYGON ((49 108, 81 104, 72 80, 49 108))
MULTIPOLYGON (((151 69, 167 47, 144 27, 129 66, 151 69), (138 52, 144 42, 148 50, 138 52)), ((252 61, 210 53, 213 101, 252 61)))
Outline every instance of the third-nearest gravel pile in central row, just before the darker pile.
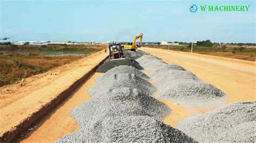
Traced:
POLYGON ((121 88, 130 87, 138 89, 146 95, 152 95, 157 89, 149 81, 140 78, 135 74, 111 74, 98 82, 95 86, 89 89, 92 96, 101 95, 102 92, 121 88))

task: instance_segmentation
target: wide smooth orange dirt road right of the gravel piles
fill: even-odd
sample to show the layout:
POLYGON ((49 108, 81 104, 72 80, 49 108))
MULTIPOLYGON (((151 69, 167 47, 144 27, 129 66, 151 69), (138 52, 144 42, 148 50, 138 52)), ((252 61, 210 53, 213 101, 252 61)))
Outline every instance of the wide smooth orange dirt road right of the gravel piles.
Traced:
POLYGON ((223 90, 224 102, 255 101, 256 64, 250 61, 142 47, 140 50, 190 70, 207 83, 223 90))

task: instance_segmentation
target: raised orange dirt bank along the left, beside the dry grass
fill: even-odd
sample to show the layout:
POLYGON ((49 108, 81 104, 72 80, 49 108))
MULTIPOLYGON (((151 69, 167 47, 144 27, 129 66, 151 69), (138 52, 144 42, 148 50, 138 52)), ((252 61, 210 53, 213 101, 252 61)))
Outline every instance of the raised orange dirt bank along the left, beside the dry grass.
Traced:
POLYGON ((19 127, 21 130, 24 121, 31 119, 35 113, 50 105, 58 96, 62 96, 64 91, 89 73, 107 55, 103 51, 97 52, 47 73, 26 78, 22 87, 8 85, 1 88, 0 138, 6 140, 3 135, 17 131, 18 126, 21 126, 19 127))

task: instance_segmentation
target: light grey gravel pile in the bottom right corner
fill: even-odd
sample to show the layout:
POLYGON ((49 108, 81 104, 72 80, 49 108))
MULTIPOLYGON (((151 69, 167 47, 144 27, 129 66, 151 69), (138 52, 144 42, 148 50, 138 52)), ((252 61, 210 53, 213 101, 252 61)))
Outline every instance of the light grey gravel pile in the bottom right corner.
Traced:
POLYGON ((178 128, 199 142, 255 142, 256 102, 231 103, 186 118, 178 128))

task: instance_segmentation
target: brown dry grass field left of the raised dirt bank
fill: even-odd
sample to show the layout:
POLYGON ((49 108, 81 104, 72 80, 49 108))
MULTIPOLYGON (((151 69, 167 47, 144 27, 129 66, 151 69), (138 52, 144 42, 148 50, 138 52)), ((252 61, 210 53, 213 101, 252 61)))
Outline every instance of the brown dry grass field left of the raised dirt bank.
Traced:
POLYGON ((76 61, 83 56, 42 56, 36 54, 0 54, 0 87, 32 75, 76 61))

